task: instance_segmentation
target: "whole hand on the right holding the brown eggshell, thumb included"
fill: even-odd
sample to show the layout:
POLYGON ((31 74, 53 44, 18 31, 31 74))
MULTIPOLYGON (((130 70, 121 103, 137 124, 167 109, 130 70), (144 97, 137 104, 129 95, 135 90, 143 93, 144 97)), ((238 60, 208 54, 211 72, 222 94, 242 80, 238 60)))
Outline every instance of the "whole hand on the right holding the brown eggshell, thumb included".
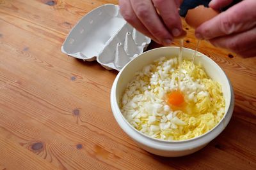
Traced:
MULTIPOLYGON (((209 6, 219 10, 232 0, 212 0, 209 6)), ((244 0, 204 22, 196 29, 196 37, 214 46, 227 48, 242 57, 256 56, 256 1, 244 0)))

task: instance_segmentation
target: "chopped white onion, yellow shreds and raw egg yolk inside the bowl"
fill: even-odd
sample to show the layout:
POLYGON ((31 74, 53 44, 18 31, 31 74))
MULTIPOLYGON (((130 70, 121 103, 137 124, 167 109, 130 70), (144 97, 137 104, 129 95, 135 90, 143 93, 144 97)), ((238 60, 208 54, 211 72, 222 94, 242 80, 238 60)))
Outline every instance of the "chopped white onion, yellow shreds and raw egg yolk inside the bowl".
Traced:
POLYGON ((215 127, 225 113, 225 99, 221 85, 211 80, 202 66, 189 60, 179 66, 177 57, 161 57, 136 73, 120 108, 138 131, 179 141, 215 127))

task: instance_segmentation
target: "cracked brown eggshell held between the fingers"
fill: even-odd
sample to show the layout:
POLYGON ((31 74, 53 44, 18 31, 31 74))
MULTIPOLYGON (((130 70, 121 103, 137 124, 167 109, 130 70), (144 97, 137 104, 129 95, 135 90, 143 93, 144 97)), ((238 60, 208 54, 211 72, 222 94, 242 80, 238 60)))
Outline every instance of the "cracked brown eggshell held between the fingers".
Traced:
POLYGON ((189 26, 196 28, 205 21, 211 20, 211 18, 215 17, 218 14, 218 11, 200 5, 192 10, 188 10, 185 20, 189 26))

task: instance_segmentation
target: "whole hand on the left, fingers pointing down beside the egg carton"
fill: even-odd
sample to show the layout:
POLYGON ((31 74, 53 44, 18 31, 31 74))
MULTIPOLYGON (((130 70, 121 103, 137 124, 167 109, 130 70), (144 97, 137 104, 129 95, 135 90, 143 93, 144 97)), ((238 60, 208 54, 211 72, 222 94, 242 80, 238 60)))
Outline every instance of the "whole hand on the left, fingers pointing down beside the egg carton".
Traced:
POLYGON ((180 0, 119 0, 124 19, 163 45, 170 45, 173 38, 186 34, 178 11, 180 3, 180 0))

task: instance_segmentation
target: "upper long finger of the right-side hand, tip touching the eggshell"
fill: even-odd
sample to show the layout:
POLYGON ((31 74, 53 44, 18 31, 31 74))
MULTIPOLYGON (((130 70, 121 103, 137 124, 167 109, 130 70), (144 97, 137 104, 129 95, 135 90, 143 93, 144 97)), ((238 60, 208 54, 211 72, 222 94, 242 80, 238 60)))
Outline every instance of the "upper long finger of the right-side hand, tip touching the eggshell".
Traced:
POLYGON ((255 0, 242 1, 196 29, 199 39, 212 39, 219 36, 243 32, 256 25, 255 0))

